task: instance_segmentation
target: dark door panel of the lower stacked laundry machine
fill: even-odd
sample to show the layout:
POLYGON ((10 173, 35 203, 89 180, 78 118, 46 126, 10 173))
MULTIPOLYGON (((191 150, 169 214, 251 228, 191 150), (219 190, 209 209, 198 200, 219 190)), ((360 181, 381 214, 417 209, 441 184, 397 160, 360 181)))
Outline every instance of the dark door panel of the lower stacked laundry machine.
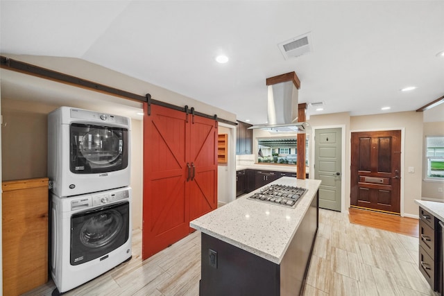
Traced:
POLYGON ((128 201, 71 216, 71 265, 116 250, 128 241, 129 225, 128 201))

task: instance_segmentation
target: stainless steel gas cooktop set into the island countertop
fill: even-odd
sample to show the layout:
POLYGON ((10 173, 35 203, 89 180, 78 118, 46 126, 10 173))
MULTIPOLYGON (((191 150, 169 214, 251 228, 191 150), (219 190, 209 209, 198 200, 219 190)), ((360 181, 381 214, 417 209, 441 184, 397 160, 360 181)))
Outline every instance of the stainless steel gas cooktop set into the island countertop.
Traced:
POLYGON ((307 189, 294 186, 273 184, 266 186, 259 193, 248 197, 250 200, 259 200, 285 207, 296 207, 296 202, 307 192, 307 189))

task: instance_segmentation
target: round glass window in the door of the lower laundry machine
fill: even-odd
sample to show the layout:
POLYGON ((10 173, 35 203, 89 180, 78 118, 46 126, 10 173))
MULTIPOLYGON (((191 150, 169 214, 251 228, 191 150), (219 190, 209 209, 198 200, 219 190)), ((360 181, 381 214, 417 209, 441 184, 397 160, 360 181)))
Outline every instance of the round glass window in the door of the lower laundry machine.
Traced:
POLYGON ((80 241, 86 247, 98 248, 119 238, 123 217, 114 209, 103 211, 89 218, 80 229, 80 241))

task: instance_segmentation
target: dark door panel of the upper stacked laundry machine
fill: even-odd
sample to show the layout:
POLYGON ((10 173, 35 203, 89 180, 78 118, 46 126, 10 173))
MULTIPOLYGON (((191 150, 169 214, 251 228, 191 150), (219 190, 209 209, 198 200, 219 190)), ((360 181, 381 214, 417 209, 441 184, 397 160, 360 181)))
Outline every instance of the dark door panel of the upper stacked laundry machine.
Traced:
POLYGON ((71 124, 72 173, 108 173, 128 166, 128 130, 102 125, 71 124))

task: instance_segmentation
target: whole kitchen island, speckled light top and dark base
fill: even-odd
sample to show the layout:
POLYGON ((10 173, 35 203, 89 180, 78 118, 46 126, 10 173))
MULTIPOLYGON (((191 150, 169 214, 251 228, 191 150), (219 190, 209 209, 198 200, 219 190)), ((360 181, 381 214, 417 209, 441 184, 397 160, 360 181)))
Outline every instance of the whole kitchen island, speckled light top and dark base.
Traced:
POLYGON ((295 207, 247 195, 192 220, 201 232, 200 295, 298 295, 318 230, 320 180, 282 177, 307 189, 295 207))

